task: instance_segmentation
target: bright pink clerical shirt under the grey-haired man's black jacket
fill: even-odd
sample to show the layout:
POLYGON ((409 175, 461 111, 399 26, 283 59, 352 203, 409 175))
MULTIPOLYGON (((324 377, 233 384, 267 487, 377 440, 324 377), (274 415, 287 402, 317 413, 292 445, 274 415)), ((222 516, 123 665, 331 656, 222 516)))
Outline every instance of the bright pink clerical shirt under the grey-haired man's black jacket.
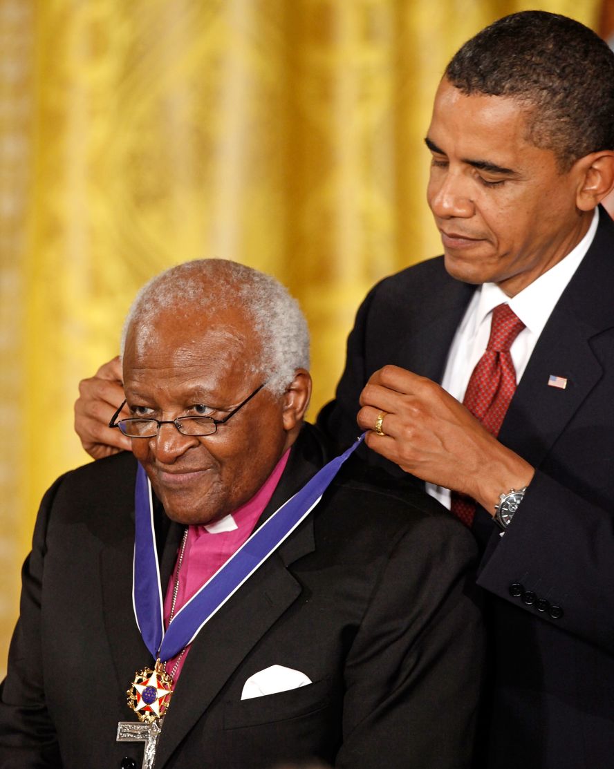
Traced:
MULTIPOLYGON (((230 556, 239 550, 249 535, 252 534, 262 511, 269 504, 273 491, 279 483, 279 478, 282 477, 289 454, 290 450, 288 449, 275 465, 275 470, 269 475, 260 491, 232 514, 206 526, 188 527, 188 538, 185 541, 182 567, 179 571, 179 590, 175 601, 175 614, 202 588, 206 581, 212 578, 213 574, 228 561, 230 556)), ((175 570, 166 590, 164 601, 165 628, 169 627, 172 594, 177 579, 178 565, 175 564, 175 570)), ((174 681, 179 678, 189 648, 189 646, 185 648, 183 655, 179 654, 166 663, 166 671, 172 675, 174 681)))

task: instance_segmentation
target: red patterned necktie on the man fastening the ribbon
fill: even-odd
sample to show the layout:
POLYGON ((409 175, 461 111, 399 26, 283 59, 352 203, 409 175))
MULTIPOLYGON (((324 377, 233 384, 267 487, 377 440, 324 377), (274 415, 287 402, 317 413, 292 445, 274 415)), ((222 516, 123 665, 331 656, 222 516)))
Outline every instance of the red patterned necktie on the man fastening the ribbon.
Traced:
MULTIPOLYGON (((516 370, 509 348, 523 328, 524 323, 509 305, 498 305, 492 311, 489 343, 473 369, 462 401, 495 437, 499 435, 509 401, 516 391, 516 370)), ((451 510, 464 524, 471 526, 476 503, 465 494, 452 491, 451 510)))

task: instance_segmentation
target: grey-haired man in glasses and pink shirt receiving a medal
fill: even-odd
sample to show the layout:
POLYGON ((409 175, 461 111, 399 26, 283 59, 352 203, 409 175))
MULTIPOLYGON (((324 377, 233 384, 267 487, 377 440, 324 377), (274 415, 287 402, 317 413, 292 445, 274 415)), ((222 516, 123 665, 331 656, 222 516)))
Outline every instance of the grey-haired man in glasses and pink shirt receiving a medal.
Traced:
POLYGON ((125 328, 128 414, 112 423, 133 453, 45 495, 0 689, 0 767, 140 767, 118 722, 148 731, 155 769, 469 767, 483 657, 469 532, 350 457, 279 548, 259 550, 332 458, 302 422, 295 301, 242 265, 197 261, 151 281, 125 328), (242 559, 251 576, 222 568, 215 612, 194 610, 218 584, 212 563, 242 559))

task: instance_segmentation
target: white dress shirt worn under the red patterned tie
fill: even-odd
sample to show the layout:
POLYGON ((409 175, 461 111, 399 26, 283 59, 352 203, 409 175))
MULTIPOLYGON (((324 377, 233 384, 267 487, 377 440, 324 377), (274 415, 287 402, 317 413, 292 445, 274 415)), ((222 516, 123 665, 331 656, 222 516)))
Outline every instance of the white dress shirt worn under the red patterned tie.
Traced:
MULTIPOLYGON (((596 208, 591 225, 576 248, 516 296, 509 298, 495 283, 484 283, 476 290, 452 340, 442 378, 442 387, 457 401, 462 403, 473 369, 486 351, 492 310, 502 303, 507 303, 526 327, 510 348, 516 382, 520 381, 552 310, 589 250, 598 223, 599 210, 596 208)), ((552 374, 558 375, 558 371, 552 371, 552 374)), ((446 508, 450 507, 449 489, 426 484, 426 491, 446 508)))

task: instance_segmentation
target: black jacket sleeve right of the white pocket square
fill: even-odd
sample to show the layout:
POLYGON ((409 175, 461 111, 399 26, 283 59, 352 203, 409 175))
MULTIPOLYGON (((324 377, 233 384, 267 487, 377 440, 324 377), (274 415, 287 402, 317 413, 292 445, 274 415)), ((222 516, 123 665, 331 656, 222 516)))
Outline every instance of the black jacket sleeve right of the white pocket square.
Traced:
POLYGON ((347 659, 336 767, 471 765, 484 669, 475 557, 469 532, 444 516, 395 547, 347 659))

